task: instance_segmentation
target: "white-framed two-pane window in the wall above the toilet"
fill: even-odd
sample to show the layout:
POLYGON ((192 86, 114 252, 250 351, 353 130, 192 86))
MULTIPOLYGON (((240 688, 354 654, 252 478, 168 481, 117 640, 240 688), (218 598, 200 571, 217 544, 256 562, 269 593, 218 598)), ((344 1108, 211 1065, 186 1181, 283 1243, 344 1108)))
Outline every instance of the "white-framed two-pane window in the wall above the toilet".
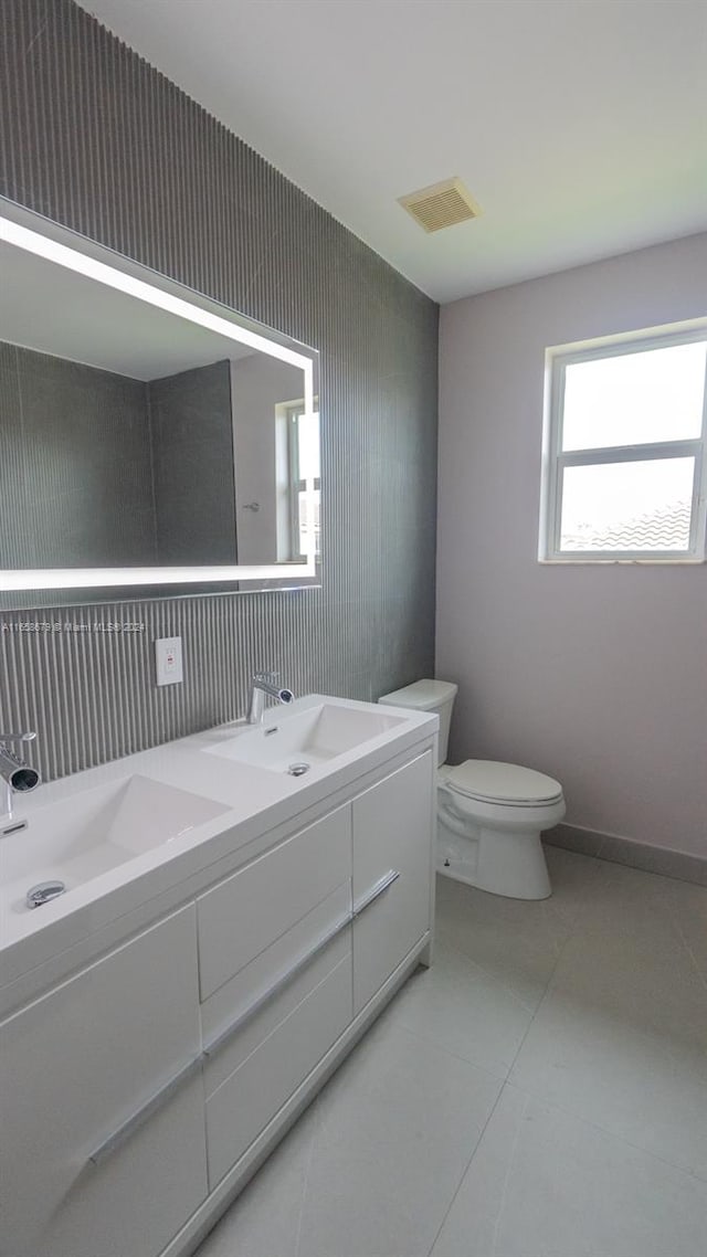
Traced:
POLYGON ((540 559, 703 562, 707 319, 546 366, 540 559))

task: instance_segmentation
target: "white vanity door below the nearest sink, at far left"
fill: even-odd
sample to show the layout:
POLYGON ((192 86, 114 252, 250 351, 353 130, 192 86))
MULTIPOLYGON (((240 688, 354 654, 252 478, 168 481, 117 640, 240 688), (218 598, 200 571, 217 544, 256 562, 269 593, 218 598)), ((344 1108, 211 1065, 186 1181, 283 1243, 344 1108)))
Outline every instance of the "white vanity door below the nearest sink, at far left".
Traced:
POLYGON ((0 1026, 3 1257, 165 1248, 206 1195, 199 1073, 111 1136, 199 1053, 194 905, 0 1026))

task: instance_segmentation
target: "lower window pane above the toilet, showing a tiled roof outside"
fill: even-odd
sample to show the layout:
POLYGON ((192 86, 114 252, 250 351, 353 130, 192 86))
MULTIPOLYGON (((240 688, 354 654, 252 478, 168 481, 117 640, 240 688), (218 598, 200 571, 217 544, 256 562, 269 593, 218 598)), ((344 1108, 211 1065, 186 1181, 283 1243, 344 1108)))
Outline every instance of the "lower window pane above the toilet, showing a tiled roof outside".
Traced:
POLYGON ((565 468, 561 551, 687 551, 694 459, 565 468))

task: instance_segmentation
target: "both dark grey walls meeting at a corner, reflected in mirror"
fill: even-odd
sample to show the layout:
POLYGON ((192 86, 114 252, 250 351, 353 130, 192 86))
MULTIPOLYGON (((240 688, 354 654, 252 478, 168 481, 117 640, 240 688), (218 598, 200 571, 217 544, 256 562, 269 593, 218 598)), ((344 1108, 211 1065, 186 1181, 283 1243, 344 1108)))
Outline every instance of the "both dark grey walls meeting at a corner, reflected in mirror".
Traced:
POLYGON ((235 563, 230 371, 133 380, 0 344, 0 567, 235 563))

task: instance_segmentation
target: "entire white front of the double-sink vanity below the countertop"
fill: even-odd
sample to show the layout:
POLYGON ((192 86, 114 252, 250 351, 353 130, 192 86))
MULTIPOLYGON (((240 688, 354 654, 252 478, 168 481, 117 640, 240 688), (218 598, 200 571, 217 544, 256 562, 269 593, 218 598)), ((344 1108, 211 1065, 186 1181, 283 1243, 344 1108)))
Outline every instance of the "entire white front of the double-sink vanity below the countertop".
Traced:
POLYGON ((0 1024, 0 1257, 194 1251, 429 941, 429 740, 0 1024))

